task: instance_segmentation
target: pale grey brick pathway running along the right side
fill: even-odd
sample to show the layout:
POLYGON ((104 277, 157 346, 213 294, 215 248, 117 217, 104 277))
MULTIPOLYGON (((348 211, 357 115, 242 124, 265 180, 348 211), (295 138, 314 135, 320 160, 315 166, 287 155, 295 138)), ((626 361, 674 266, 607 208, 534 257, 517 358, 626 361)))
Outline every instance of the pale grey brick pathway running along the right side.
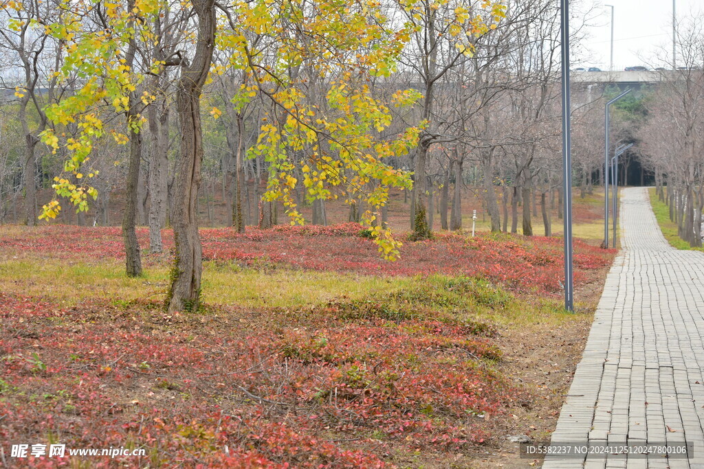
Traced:
POLYGON ((644 188, 622 190, 621 229, 552 442, 686 441, 693 456, 548 456, 543 468, 704 468, 704 254, 670 247, 644 188))

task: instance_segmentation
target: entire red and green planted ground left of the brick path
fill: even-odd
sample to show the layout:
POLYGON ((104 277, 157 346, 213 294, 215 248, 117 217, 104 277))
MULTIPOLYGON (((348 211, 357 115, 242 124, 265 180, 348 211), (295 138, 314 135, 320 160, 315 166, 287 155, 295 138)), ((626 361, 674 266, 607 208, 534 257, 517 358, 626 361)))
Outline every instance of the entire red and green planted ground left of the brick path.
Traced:
POLYGON ((168 254, 127 278, 118 229, 0 227, 1 439, 149 467, 530 463, 505 435, 549 437, 615 252, 575 244, 569 314, 559 240, 439 235, 391 264, 356 233, 203 230, 206 307, 167 315, 168 254))

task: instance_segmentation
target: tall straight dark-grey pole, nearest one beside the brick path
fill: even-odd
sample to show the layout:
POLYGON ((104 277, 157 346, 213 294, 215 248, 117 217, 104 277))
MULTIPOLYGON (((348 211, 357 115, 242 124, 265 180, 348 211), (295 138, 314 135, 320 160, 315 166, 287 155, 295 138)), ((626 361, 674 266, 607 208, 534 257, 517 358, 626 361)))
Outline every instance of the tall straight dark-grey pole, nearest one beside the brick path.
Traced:
POLYGON ((574 311, 572 266, 572 126, 570 122, 570 11, 569 0, 560 0, 560 49, 562 53, 562 217, 565 238, 565 309, 574 311))

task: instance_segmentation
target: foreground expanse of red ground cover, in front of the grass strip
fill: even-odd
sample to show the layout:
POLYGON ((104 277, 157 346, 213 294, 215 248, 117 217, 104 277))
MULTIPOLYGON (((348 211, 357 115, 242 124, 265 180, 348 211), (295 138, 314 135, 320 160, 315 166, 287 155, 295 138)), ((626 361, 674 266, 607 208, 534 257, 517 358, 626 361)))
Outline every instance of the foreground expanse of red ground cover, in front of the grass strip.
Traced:
MULTIPOLYGON (((11 444, 52 442, 144 448, 121 461, 140 466, 381 468, 485 444, 489 417, 526 399, 483 365, 501 351, 478 324, 348 321, 339 304, 146 307, 64 309, 0 293, 5 458, 11 444)), ((69 464, 11 462, 57 461, 69 464)))

